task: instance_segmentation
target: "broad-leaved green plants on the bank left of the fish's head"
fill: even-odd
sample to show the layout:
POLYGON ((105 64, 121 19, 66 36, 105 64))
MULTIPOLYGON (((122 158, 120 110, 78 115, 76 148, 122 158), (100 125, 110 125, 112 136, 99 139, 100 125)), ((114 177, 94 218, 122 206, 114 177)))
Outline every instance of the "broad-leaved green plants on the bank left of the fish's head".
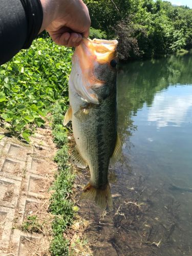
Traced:
POLYGON ((32 128, 44 125, 51 105, 60 98, 67 104, 72 53, 50 38, 38 38, 0 67, 0 119, 13 133, 29 142, 32 128))

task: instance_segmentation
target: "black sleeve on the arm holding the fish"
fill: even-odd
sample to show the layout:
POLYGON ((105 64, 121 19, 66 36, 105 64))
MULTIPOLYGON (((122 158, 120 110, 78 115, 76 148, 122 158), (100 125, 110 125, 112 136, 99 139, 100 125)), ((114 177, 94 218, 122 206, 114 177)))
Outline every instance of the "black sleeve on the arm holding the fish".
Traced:
POLYGON ((0 65, 31 46, 42 18, 39 0, 0 0, 0 65))

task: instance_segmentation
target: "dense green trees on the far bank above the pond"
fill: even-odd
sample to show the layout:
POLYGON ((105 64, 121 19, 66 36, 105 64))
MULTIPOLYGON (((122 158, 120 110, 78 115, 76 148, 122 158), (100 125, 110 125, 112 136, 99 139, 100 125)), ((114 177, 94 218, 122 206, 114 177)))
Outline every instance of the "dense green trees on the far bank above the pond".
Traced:
POLYGON ((92 27, 106 31, 107 38, 119 38, 121 60, 192 48, 192 10, 188 7, 174 7, 162 0, 85 2, 92 27))

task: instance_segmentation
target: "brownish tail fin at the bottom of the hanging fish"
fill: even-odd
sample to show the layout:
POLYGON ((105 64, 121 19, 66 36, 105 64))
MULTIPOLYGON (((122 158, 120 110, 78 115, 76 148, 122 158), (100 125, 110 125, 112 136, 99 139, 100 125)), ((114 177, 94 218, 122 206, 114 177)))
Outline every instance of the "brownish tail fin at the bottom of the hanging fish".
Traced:
POLYGON ((94 201, 102 210, 105 210, 107 205, 110 210, 113 209, 113 201, 109 183, 104 189, 96 188, 92 184, 88 183, 88 185, 84 187, 82 191, 80 200, 94 201))

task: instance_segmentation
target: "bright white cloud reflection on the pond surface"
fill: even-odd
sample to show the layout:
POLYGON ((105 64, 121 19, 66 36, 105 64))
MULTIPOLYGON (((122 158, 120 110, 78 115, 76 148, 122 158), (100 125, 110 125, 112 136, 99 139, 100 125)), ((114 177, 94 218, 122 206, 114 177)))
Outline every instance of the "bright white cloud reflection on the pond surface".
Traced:
POLYGON ((152 108, 148 110, 148 125, 158 128, 168 125, 181 126, 191 121, 191 86, 170 86, 168 90, 157 93, 152 108))

